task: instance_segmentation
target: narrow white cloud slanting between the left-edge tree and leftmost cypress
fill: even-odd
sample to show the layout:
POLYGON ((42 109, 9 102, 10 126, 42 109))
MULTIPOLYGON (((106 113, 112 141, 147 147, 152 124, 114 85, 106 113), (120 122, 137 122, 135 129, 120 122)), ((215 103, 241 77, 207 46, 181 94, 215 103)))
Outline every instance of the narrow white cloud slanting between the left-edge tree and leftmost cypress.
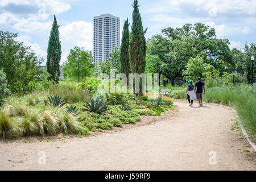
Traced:
POLYGON ((27 35, 22 35, 22 36, 19 36, 17 38, 17 40, 19 42, 23 42, 25 46, 29 46, 31 47, 31 49, 35 52, 36 56, 38 57, 44 57, 44 59, 46 59, 47 57, 47 52, 44 51, 40 46, 39 44, 37 43, 31 43, 30 40, 31 38, 27 35))

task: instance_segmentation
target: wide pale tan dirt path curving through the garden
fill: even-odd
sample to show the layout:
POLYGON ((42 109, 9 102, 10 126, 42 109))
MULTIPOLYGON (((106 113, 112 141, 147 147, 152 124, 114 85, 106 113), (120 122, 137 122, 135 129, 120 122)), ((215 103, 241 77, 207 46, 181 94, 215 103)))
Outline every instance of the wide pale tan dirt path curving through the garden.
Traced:
POLYGON ((0 143, 0 170, 256 169, 253 148, 231 130, 235 122, 232 110, 213 105, 191 108, 183 101, 175 105, 177 113, 166 121, 117 133, 0 143), (38 164, 39 151, 46 152, 45 165, 38 164), (209 164, 210 151, 216 152, 215 165, 209 164))

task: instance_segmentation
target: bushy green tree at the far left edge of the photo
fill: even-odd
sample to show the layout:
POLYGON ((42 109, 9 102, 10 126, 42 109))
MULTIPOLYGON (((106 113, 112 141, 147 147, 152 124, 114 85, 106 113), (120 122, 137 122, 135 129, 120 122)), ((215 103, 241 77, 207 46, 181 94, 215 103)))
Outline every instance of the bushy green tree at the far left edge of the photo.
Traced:
POLYGON ((30 47, 16 40, 17 36, 0 31, 0 69, 6 74, 7 88, 11 92, 17 92, 17 84, 19 90, 26 90, 28 83, 42 73, 40 64, 43 58, 38 59, 30 47))

